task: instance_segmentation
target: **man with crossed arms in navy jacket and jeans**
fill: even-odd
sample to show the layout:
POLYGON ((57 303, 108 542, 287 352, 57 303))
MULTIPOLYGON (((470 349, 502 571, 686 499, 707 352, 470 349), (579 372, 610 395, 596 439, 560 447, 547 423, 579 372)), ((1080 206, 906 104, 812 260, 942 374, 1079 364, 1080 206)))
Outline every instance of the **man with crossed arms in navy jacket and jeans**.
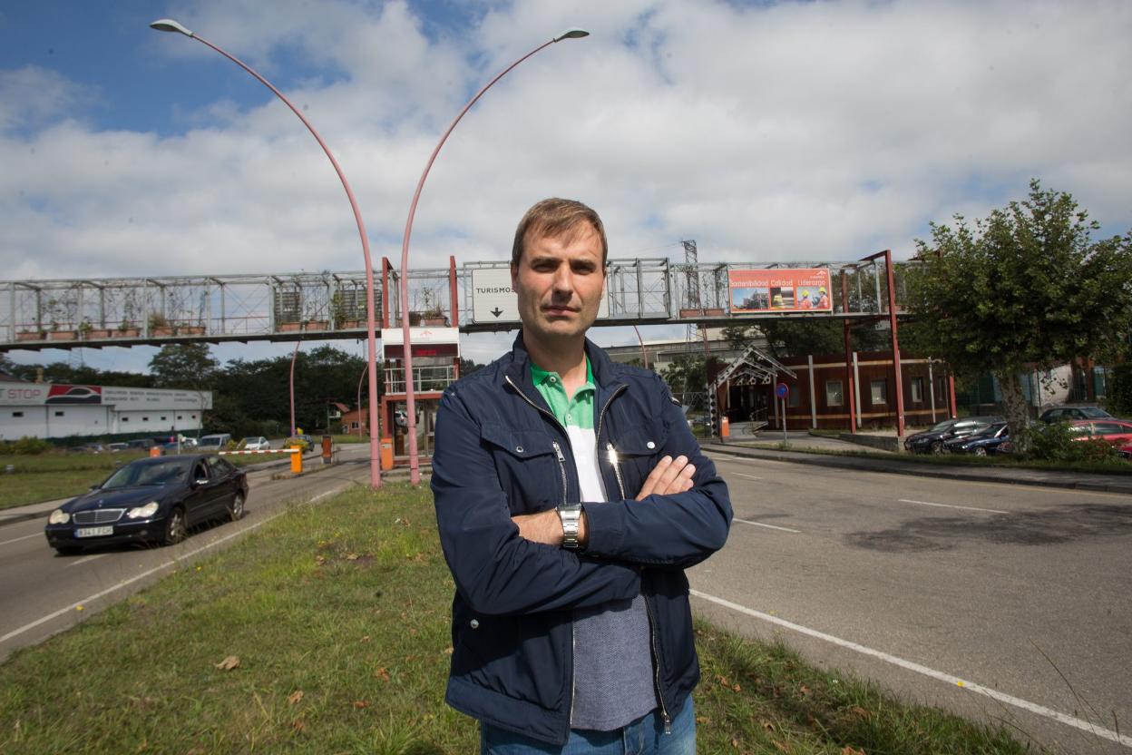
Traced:
POLYGON ((664 383, 586 340, 607 257, 585 205, 528 211, 522 331, 440 401, 446 700, 480 721, 483 753, 695 752, 684 569, 722 548, 731 504, 664 383))

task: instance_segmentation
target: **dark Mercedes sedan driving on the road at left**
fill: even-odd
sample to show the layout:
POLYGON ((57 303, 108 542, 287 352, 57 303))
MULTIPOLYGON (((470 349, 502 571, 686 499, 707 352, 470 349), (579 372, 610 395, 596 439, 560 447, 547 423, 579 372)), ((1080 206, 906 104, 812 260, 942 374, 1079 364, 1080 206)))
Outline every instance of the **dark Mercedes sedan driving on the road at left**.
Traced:
POLYGON ((48 543, 60 554, 125 542, 171 546, 190 526, 243 516, 248 478, 215 454, 139 458, 48 518, 48 543))

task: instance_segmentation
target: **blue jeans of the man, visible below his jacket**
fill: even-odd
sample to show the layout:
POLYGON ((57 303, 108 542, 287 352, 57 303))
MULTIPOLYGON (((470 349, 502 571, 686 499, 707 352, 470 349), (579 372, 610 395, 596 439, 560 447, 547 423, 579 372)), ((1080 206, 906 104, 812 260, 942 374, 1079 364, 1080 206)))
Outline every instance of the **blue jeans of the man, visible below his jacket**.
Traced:
POLYGON ((480 723, 481 755, 695 755, 696 714, 692 697, 664 733, 660 710, 614 731, 571 729, 565 745, 548 745, 521 733, 480 723))

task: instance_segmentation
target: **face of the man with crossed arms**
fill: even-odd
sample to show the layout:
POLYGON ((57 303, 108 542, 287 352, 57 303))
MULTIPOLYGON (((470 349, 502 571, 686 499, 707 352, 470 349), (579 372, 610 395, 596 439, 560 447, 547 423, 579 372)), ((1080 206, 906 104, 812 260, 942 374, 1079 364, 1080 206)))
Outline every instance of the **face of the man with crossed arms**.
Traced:
POLYGON ((598 318, 604 283, 601 237, 589 223, 555 239, 529 235, 511 268, 524 338, 550 345, 583 337, 598 318))

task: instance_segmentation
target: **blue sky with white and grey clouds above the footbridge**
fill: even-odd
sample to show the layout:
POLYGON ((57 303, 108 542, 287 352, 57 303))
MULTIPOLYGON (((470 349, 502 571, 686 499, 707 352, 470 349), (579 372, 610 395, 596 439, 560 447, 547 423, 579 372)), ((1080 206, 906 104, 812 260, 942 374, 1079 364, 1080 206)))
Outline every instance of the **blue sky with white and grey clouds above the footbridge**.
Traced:
MULTIPOLYGON (((38 0, 0 5, 0 285, 360 271, 331 146, 375 258, 503 260, 547 196, 602 216, 610 257, 907 258, 929 223, 985 216, 1031 178, 1103 235, 1132 228, 1126 0, 38 0)), ((643 331, 661 337, 668 328, 643 331)), ((598 332, 627 343, 632 329, 598 332)), ((487 361, 509 337, 472 336, 487 361)), ((363 344, 335 345, 362 353, 363 344)), ((215 346, 222 361, 289 345, 215 346)), ((15 351, 144 370, 153 349, 15 351)))

